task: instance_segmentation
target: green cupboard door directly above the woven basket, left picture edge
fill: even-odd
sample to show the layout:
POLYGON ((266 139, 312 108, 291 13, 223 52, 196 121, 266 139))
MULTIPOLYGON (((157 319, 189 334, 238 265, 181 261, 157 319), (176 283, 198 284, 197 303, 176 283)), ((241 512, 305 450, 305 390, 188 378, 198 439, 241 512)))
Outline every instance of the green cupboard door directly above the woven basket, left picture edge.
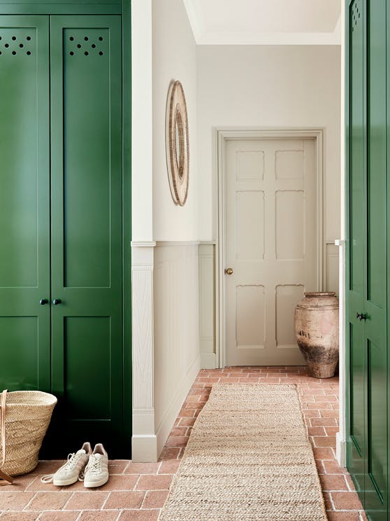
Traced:
POLYGON ((50 390, 48 17, 0 17, 0 390, 50 390))

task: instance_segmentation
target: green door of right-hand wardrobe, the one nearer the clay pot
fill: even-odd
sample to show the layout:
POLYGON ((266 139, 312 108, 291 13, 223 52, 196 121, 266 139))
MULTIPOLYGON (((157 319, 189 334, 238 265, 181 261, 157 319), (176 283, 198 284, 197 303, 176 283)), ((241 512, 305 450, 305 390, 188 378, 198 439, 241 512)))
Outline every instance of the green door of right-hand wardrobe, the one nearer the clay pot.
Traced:
POLYGON ((365 135, 365 31, 363 1, 354 0, 349 18, 349 265, 347 277, 347 334, 349 335, 349 415, 347 458, 355 487, 364 501, 366 472, 366 346, 363 322, 364 298, 364 222, 366 204, 365 135))

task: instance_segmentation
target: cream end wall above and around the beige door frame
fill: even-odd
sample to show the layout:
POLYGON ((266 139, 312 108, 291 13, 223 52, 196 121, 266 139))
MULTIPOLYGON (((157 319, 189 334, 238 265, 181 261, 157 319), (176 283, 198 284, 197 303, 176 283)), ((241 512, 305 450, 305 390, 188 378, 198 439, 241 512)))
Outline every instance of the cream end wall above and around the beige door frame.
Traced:
POLYGON ((324 127, 324 240, 340 237, 340 46, 198 46, 200 237, 215 238, 213 127, 324 127))

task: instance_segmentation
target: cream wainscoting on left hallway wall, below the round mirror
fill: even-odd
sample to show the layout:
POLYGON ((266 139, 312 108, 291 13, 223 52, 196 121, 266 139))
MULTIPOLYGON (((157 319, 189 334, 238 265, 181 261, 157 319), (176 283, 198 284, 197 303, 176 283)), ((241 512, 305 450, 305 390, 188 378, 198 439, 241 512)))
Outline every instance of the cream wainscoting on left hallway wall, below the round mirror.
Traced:
POLYGON ((154 249, 154 420, 157 452, 201 367, 198 242, 157 242, 154 249))

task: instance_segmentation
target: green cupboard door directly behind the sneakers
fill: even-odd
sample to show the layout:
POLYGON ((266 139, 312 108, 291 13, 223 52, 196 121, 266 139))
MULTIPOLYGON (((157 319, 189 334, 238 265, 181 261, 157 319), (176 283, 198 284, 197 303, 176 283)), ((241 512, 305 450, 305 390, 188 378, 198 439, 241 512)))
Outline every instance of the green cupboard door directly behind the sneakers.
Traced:
POLYGON ((62 454, 122 443, 120 16, 50 19, 52 389, 62 454))

